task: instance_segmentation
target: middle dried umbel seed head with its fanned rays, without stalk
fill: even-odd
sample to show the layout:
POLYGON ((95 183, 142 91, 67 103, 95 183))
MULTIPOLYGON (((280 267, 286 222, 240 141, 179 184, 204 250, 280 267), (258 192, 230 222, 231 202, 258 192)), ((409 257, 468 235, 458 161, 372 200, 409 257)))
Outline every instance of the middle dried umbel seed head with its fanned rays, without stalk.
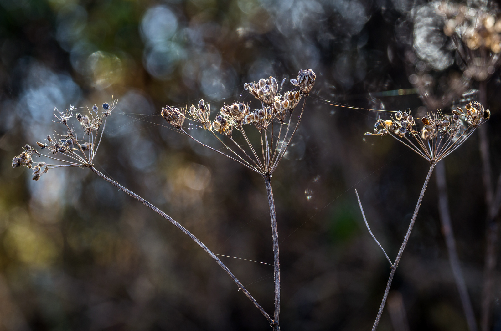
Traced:
POLYGON ((204 146, 211 148, 218 153, 224 154, 242 165, 263 174, 264 176, 270 175, 273 173, 278 165, 278 162, 282 159, 285 151, 289 147, 290 140, 294 136, 294 133, 299 125, 299 121, 303 115, 304 107, 298 117, 296 128, 292 134, 288 136, 294 109, 299 104, 303 95, 308 96, 308 93, 315 84, 315 78, 316 75, 313 70, 300 70, 298 78, 291 80, 291 83, 298 88, 287 91, 284 94, 281 94, 281 90, 285 79, 282 81, 280 89, 275 77, 260 79, 258 83, 246 83, 244 84, 244 89, 249 91, 250 95, 253 95, 261 102, 261 107, 258 109, 251 109, 249 104, 242 102, 234 102, 230 105, 224 105, 219 114, 215 115, 212 122, 210 122, 209 119, 210 104, 205 104, 203 100, 200 100, 196 107, 194 105, 191 105, 189 108, 186 107, 187 111, 186 109, 179 110, 174 107, 166 106, 162 108, 162 117, 173 127, 188 135, 198 143, 204 145, 184 130, 183 123, 185 114, 188 113, 191 117, 190 120, 197 122, 200 124, 201 128, 213 134, 234 157, 226 155, 219 150, 215 150, 210 146, 204 146), (277 121, 275 121, 275 119, 277 119, 277 121), (289 123, 285 123, 287 119, 289 120, 289 123), (273 125, 274 121, 278 122, 276 127, 273 125), (261 136, 259 144, 250 143, 245 134, 245 124, 253 124, 258 129, 261 136), (286 130, 282 130, 284 126, 287 126, 286 130), (238 145, 238 143, 233 139, 233 133, 235 130, 241 133, 245 143, 248 145, 248 148, 250 148, 252 153, 247 153, 242 146, 238 145), (282 136, 283 131, 285 131, 285 136, 282 136), (230 141, 238 148, 238 153, 229 148, 219 138, 219 136, 216 135, 216 133, 229 138, 230 141), (261 153, 256 152, 256 145, 262 146, 261 153), (258 157, 259 154, 263 156, 263 159, 258 157))

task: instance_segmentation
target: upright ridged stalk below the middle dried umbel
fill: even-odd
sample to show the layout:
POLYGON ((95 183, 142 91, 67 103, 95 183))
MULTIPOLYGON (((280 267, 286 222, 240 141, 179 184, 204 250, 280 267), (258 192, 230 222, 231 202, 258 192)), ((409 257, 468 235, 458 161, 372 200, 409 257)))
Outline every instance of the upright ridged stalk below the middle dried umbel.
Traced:
POLYGON ((275 275, 275 315, 273 323, 274 330, 280 330, 280 255, 279 255, 279 232, 277 227, 277 213, 275 212, 275 201, 273 199, 271 176, 265 176, 266 192, 268 194, 268 204, 270 206, 270 218, 272 221, 273 237, 273 271, 275 275))

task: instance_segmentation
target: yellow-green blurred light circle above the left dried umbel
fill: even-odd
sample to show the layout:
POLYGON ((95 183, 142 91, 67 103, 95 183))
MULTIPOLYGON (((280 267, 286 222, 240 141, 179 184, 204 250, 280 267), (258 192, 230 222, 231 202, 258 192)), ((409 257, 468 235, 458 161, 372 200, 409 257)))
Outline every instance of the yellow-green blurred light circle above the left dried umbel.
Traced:
POLYGON ((122 62, 114 54, 98 51, 92 53, 87 59, 87 69, 94 85, 105 89, 121 77, 122 62))

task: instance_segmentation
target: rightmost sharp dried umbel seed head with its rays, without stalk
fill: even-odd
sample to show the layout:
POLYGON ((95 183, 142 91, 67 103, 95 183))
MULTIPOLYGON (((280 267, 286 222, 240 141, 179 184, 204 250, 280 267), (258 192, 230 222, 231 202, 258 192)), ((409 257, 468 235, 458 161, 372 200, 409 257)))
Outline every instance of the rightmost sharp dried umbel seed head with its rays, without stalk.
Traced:
POLYGON ((390 135, 397 139, 430 163, 437 163, 471 136, 473 131, 489 116, 489 110, 483 109, 478 102, 466 105, 466 111, 458 108, 453 115, 428 113, 421 122, 420 130, 417 129, 416 121, 407 112, 398 111, 395 118, 378 119, 374 125, 374 133, 366 135, 390 135))

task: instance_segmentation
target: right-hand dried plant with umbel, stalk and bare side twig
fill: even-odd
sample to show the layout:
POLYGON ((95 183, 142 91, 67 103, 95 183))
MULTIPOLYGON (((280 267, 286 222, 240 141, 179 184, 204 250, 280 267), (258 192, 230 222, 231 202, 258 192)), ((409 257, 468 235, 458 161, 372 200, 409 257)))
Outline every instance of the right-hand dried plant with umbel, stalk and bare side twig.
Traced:
POLYGON ((386 284, 386 289, 384 291, 383 299, 381 301, 381 305, 379 306, 379 311, 376 316, 376 320, 374 321, 372 331, 375 331, 379 324, 393 276, 395 275, 398 263, 400 262, 403 251, 412 232, 412 228, 414 227, 424 192, 426 191, 426 187, 428 186, 428 182, 435 165, 461 146, 466 139, 471 136, 475 129, 487 121, 489 117, 490 111, 488 109, 485 110, 479 102, 474 101, 467 104, 465 110, 457 107, 457 110, 452 111, 452 115, 443 115, 440 111, 437 111, 437 113, 427 113, 423 118, 421 118, 421 122, 423 123, 421 129, 417 128, 416 120, 412 117, 410 111, 409 113, 398 111, 395 114, 395 118, 392 117, 388 120, 378 119, 375 124, 376 128, 374 129, 374 133, 366 133, 366 135, 373 136, 390 135, 430 163, 430 168, 428 170, 428 174, 426 175, 421 193, 419 194, 409 227, 393 263, 389 259, 388 254, 386 254, 383 247, 372 234, 369 224, 367 223, 367 219, 365 218, 362 203, 358 197, 358 193, 355 191, 360 210, 365 224, 369 229, 369 233, 372 238, 376 240, 378 246, 383 250, 386 258, 390 262, 391 268, 390 276, 386 284))

